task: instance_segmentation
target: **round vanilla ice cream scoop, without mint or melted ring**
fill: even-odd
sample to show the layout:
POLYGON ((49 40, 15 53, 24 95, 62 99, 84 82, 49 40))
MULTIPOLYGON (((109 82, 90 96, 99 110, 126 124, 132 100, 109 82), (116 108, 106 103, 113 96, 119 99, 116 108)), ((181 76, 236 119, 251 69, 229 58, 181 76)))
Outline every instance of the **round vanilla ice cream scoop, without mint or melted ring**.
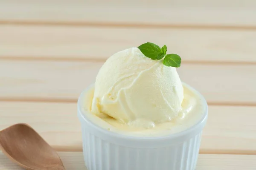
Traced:
POLYGON ((176 68, 129 48, 113 54, 99 70, 91 112, 149 128, 177 118, 183 98, 176 68))

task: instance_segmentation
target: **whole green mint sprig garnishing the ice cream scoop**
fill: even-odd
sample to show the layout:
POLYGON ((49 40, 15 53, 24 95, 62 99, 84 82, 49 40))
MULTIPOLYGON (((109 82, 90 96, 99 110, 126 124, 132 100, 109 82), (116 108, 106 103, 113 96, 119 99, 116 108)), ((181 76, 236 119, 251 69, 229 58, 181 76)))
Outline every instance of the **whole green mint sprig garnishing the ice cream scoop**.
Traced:
POLYGON ((160 48, 158 45, 155 45, 154 43, 147 42, 145 44, 142 44, 138 47, 140 51, 145 55, 145 57, 151 58, 151 59, 157 59, 160 60, 163 59, 163 64, 168 67, 180 67, 181 58, 177 54, 167 54, 167 47, 166 45, 163 45, 162 48, 160 48))

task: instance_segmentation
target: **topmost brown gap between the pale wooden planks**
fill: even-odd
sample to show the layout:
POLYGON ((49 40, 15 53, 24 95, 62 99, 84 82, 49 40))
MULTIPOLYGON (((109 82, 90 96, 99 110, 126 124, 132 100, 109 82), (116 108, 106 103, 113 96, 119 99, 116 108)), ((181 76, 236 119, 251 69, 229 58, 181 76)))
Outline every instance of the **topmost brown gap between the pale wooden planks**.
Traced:
POLYGON ((1 25, 10 26, 73 26, 73 27, 110 27, 110 28, 183 28, 183 29, 218 29, 218 30, 256 30, 256 26, 224 25, 189 25, 189 24, 137 24, 137 23, 97 23, 97 22, 51 22, 51 21, 18 21, 0 20, 1 25))

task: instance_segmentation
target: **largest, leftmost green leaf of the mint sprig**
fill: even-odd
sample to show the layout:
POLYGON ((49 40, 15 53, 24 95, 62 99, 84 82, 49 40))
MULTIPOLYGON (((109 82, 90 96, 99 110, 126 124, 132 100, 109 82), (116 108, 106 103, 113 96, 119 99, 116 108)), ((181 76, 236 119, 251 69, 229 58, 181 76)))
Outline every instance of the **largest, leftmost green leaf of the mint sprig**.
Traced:
POLYGON ((151 43, 151 42, 142 44, 138 48, 146 57, 151 59, 157 59, 158 55, 162 53, 161 48, 158 45, 155 45, 154 43, 151 43))

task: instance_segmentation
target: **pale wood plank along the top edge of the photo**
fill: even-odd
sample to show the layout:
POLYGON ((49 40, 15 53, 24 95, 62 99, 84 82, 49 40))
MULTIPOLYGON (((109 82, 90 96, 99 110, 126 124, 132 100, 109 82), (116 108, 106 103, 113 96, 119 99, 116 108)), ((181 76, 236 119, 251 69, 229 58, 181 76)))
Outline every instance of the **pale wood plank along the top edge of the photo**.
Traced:
POLYGON ((256 26, 254 0, 0 1, 0 20, 256 26))

